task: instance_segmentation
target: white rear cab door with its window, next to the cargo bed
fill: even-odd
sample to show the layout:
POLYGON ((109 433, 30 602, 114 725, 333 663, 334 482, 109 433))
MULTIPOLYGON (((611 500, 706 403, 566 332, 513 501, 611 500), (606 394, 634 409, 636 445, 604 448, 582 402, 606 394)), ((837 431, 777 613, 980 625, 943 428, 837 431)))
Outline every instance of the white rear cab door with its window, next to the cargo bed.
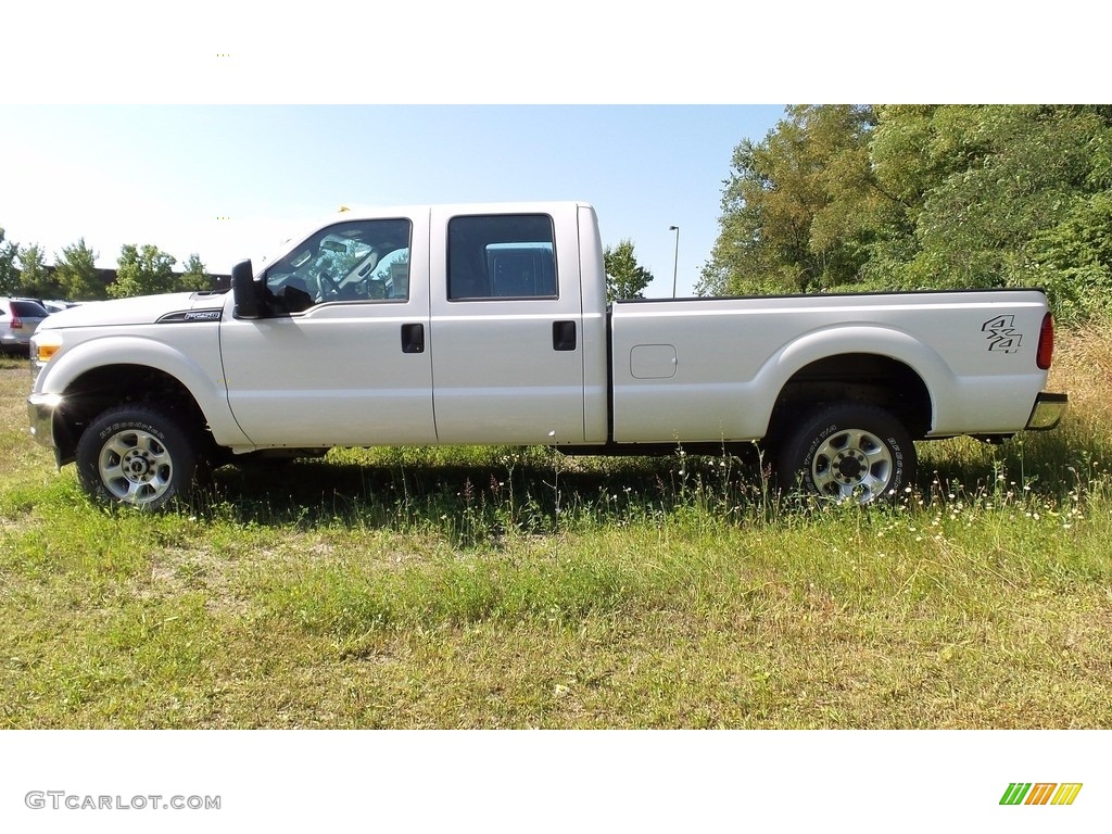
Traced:
POLYGON ((440 443, 584 439, 575 216, 433 210, 434 409, 440 443))

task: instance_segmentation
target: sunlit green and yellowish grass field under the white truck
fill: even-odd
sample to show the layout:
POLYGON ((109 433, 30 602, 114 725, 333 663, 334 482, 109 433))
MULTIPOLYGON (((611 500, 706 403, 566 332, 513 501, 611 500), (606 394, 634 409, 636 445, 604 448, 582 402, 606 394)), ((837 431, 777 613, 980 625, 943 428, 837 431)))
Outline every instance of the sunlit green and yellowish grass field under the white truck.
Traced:
POLYGON ((1112 338, 894 507, 759 461, 334 451, 91 506, 0 359, 0 726, 1108 727, 1112 338))

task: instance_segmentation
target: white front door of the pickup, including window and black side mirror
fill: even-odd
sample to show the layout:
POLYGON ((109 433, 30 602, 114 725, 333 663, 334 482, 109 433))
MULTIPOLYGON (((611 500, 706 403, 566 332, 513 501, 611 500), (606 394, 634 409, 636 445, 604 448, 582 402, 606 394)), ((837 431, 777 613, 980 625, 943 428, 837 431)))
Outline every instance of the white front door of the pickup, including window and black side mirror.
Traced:
POLYGON ((227 317, 220 335, 254 444, 436 440, 427 241, 427 216, 341 221, 264 271, 265 317, 227 317))

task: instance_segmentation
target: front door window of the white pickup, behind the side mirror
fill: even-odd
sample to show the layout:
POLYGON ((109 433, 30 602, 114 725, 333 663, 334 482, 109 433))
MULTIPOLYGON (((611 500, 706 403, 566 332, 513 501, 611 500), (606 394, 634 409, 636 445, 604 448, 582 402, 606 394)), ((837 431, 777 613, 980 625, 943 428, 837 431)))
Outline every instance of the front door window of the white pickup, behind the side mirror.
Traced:
POLYGON ((407 301, 410 230, 409 220, 396 219, 315 232, 267 269, 267 298, 286 312, 326 301, 407 301))

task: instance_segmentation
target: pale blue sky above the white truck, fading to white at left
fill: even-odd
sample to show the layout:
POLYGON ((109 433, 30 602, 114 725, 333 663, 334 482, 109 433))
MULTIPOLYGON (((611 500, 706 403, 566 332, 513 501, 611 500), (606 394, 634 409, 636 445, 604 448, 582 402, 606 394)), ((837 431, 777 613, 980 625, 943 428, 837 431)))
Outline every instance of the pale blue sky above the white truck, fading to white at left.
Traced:
POLYGON ((211 271, 341 205, 577 199, 689 292, 717 236, 734 147, 782 106, 16 106, 0 159, 8 240, 78 238, 115 266, 153 244, 211 271), (679 227, 679 257, 675 262, 679 227))

